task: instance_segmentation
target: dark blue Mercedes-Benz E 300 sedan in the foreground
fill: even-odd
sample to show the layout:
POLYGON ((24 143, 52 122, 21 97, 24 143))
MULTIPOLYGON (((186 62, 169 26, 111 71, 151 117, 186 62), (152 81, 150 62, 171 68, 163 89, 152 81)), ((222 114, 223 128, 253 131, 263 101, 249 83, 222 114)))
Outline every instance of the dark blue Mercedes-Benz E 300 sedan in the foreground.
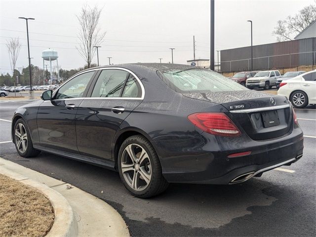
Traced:
POLYGON ((117 170, 136 197, 158 195, 168 183, 237 184, 303 155, 286 97, 209 69, 91 68, 41 99, 15 111, 20 156, 45 151, 117 170))

